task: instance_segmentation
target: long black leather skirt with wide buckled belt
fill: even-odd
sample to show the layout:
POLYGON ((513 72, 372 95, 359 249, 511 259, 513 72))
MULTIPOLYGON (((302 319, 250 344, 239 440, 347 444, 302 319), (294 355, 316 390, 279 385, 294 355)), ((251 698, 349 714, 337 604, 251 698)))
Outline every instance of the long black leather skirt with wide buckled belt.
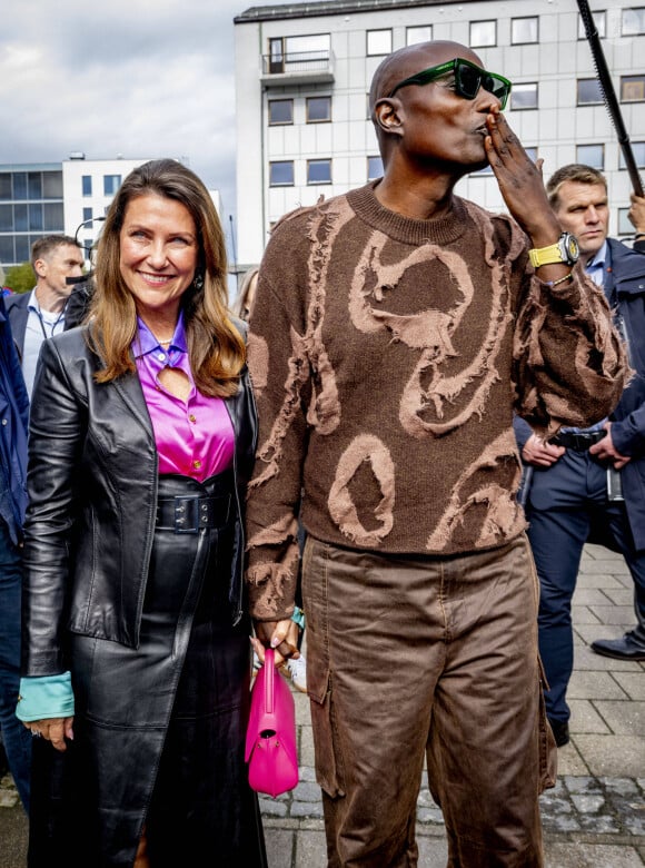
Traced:
POLYGON ((227 600, 232 486, 161 476, 139 648, 71 638, 75 740, 38 744, 30 868, 131 866, 143 829, 151 868, 266 866, 244 761, 250 624, 227 600))

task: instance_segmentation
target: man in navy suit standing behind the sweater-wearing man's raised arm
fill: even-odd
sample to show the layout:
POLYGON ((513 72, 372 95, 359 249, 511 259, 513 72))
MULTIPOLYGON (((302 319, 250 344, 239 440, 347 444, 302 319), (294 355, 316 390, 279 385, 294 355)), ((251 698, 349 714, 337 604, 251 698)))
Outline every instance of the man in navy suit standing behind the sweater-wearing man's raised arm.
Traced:
MULTIPOLYGON (((604 287, 636 372, 615 411, 592 428, 564 428, 544 442, 526 422, 515 422, 522 457, 532 468, 525 507, 540 582, 547 714, 562 746, 568 741, 566 691, 574 658, 570 603, 587 540, 623 554, 636 613, 625 635, 598 639, 592 648, 618 660, 645 660, 645 226, 635 224, 634 249, 607 238, 606 180, 588 166, 558 169, 547 193, 562 228, 577 237, 587 272, 604 287)), ((629 216, 645 218, 645 200, 633 197, 629 216)))

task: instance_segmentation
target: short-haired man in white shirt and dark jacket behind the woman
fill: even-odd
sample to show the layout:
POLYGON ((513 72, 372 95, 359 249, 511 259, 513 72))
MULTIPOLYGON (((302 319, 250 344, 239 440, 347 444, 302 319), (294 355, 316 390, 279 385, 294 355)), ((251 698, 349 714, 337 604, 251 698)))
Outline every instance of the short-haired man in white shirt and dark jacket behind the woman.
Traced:
POLYGON ((67 278, 82 275, 83 250, 71 236, 46 235, 31 247, 31 266, 34 288, 7 297, 7 312, 29 395, 41 343, 64 329, 72 290, 67 278))

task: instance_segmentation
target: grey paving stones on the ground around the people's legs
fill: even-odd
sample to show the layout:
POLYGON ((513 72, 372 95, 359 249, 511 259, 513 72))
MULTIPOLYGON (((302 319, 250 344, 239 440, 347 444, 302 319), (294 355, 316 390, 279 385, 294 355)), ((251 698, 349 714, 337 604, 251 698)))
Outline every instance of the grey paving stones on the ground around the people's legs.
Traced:
MULTIPOLYGON (((558 752, 558 783, 542 798, 546 868, 645 866, 645 664, 594 654, 597 638, 633 625, 633 590, 623 560, 585 550, 574 598, 572 741, 558 752)), ((300 782, 262 800, 270 868, 325 868, 325 836, 308 700, 296 693, 300 782)), ((27 823, 9 777, 0 783, 0 868, 24 868, 27 823)), ((423 788, 417 831, 423 868, 444 868, 441 813, 423 788)), ((181 868, 178 866, 178 868, 181 868)))

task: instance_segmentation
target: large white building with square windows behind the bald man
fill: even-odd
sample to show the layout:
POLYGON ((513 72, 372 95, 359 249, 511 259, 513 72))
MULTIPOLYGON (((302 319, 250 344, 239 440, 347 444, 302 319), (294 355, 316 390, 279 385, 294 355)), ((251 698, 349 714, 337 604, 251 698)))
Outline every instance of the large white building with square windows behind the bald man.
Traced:
MULTIPOLYGON (((645 3, 591 0, 637 165, 645 167, 645 3)), ((576 0, 322 0, 235 18, 239 272, 300 205, 381 174, 368 114, 373 73, 406 45, 447 39, 514 82, 506 114, 545 180, 585 162, 608 181, 611 231, 628 239, 631 183, 576 0)), ((504 210, 490 170, 456 191, 504 210)))

